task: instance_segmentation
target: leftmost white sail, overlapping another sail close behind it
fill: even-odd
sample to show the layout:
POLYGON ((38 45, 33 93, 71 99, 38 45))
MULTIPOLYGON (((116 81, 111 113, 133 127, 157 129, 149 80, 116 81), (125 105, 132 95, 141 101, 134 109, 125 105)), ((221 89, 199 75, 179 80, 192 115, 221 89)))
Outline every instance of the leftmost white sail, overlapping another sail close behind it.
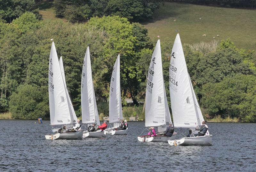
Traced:
POLYGON ((62 79, 54 42, 52 42, 49 59, 48 83, 51 125, 75 123, 76 121, 70 116, 71 109, 68 103, 68 95, 62 79))

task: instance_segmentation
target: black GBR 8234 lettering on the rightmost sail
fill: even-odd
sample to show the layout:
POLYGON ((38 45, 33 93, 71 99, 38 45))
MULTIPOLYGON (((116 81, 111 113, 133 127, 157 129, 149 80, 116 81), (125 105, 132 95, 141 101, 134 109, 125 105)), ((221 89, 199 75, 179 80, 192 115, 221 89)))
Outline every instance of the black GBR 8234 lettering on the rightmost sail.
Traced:
POLYGON ((178 78, 176 78, 177 68, 174 66, 175 52, 172 52, 170 68, 169 68, 169 82, 171 89, 175 92, 178 90, 178 78))

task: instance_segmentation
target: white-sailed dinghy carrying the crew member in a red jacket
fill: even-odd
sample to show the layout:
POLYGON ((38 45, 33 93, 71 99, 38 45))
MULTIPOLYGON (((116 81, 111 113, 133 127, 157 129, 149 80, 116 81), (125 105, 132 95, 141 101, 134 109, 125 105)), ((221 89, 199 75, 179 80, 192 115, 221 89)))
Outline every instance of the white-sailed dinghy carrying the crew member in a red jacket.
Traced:
MULTIPOLYGON (((81 80, 81 108, 82 108, 82 123, 85 127, 89 127, 92 123, 100 125, 98 109, 95 99, 92 67, 89 47, 86 49, 83 63, 82 80, 81 80), (87 125, 87 126, 86 126, 87 125)), ((102 137, 104 132, 101 130, 89 132, 84 131, 83 137, 102 137)))

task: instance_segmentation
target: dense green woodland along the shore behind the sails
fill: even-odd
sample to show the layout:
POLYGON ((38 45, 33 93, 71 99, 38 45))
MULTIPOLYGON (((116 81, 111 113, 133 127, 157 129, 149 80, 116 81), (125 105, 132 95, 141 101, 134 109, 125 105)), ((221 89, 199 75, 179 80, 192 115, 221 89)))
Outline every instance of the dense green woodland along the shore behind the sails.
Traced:
MULTIPOLYGON (((18 119, 49 117, 48 64, 50 39, 53 38, 58 56, 63 58, 66 82, 77 116, 81 116, 81 73, 87 46, 90 47, 99 112, 108 115, 110 77, 120 54, 124 116, 138 113, 125 111, 125 98, 131 98, 143 116, 143 103, 140 102, 145 100, 146 74, 157 41, 148 38, 144 26, 119 16, 91 17, 87 23, 74 24, 41 21, 33 12, 25 12, 11 23, 6 21, 0 22, 0 113, 10 111, 12 117, 18 119)), ((161 39, 169 103, 173 42, 161 39)), ((230 116, 242 122, 255 122, 256 45, 245 51, 236 48, 228 39, 184 44, 183 50, 204 116, 208 119, 217 115, 230 116)))

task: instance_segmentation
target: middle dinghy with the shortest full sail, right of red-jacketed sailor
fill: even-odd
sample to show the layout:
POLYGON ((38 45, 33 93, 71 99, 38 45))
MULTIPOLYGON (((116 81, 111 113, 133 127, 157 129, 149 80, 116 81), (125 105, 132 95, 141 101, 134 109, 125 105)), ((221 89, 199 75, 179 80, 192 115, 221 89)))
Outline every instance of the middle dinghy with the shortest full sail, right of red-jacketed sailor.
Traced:
POLYGON ((112 71, 109 89, 109 123, 114 124, 113 127, 104 130, 104 134, 126 134, 128 128, 125 130, 120 130, 119 128, 121 120, 123 120, 123 111, 120 86, 120 55, 118 55, 112 71))

